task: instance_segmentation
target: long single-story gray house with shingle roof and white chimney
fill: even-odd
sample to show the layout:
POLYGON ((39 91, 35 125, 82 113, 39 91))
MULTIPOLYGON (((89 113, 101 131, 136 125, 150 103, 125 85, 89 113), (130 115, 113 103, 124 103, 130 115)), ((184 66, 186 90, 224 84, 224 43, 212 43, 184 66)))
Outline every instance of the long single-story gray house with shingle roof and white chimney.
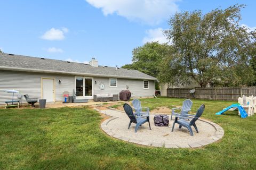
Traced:
MULTIPOLYGON (((156 78, 137 70, 0 53, 0 105, 12 99, 7 89, 31 98, 63 101, 68 91, 77 99, 93 99, 94 94, 119 94, 129 89, 132 97, 153 97, 156 78)), ((17 99, 17 95, 14 94, 17 99)), ((22 98, 23 102, 26 102, 22 98)))

